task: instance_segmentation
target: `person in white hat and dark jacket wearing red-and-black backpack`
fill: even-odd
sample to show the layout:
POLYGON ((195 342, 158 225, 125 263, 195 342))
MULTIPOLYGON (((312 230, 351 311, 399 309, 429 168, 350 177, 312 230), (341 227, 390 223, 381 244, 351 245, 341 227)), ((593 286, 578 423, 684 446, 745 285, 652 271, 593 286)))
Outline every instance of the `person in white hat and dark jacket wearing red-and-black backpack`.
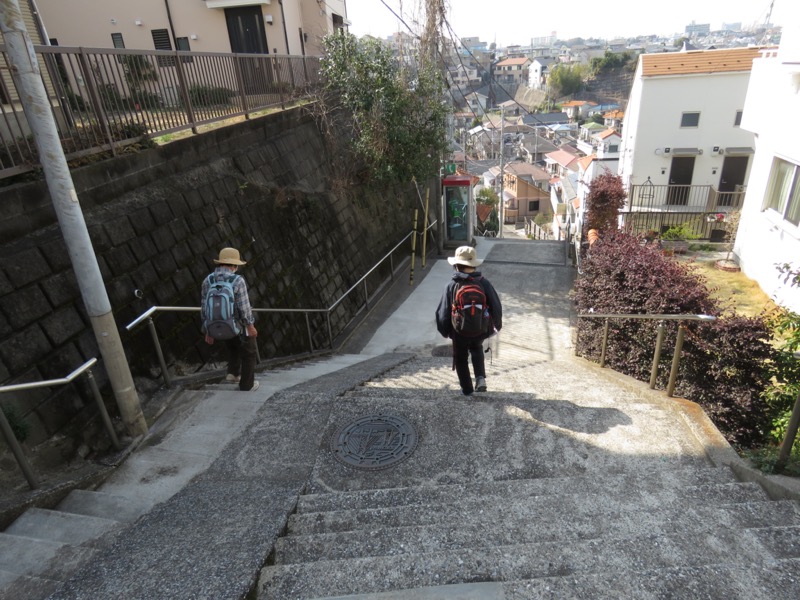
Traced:
POLYGON ((477 267, 483 262, 475 248, 456 248, 455 256, 447 259, 455 268, 452 280, 445 287, 436 308, 436 329, 443 337, 453 340, 453 369, 465 396, 485 392, 486 367, 483 340, 503 327, 503 307, 494 286, 477 267), (471 302, 467 313, 474 315, 470 326, 464 324, 464 303, 471 302), (475 385, 469 372, 469 359, 475 372, 475 385))

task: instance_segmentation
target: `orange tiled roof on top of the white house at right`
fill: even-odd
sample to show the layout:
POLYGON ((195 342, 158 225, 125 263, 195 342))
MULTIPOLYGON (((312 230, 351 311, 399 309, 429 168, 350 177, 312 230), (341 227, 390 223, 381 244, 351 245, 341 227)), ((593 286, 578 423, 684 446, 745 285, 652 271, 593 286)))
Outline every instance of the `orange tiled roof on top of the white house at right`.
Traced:
POLYGON ((750 71, 762 48, 725 48, 642 54, 642 77, 750 71))

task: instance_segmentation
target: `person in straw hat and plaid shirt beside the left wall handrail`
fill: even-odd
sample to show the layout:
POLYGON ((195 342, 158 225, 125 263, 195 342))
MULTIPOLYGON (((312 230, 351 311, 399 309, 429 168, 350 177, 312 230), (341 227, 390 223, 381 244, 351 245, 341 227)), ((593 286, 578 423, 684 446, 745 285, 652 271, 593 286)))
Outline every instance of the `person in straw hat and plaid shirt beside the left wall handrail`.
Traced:
MULTIPOLYGON (((244 277, 236 274, 239 267, 247 263, 241 259, 236 248, 223 248, 219 251, 219 258, 215 258, 214 262, 218 266, 203 280, 200 296, 201 306, 204 311, 204 299, 208 294, 210 280, 215 282, 225 279, 232 280, 235 299, 234 316, 242 326, 242 334, 224 342, 228 351, 228 374, 225 376, 225 381, 238 383, 239 389, 243 392, 254 392, 258 389, 258 382, 254 380, 258 331, 254 325, 255 319, 250 306, 247 282, 244 277)), ((201 318, 205 321, 206 315, 202 314, 201 318)), ((213 344, 215 341, 208 333, 206 333, 205 339, 208 344, 213 344)))

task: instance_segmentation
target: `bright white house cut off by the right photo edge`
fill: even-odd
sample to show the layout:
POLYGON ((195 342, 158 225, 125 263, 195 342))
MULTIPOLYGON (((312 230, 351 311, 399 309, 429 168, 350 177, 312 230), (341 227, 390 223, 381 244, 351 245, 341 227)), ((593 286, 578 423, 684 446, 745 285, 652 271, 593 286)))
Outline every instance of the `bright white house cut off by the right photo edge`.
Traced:
POLYGON ((800 131, 795 121, 787 121, 787 115, 800 111, 798 89, 800 26, 794 24, 783 29, 777 51, 763 51, 753 61, 741 127, 758 142, 734 253, 748 277, 800 313, 800 287, 776 269, 787 263, 800 268, 800 131))

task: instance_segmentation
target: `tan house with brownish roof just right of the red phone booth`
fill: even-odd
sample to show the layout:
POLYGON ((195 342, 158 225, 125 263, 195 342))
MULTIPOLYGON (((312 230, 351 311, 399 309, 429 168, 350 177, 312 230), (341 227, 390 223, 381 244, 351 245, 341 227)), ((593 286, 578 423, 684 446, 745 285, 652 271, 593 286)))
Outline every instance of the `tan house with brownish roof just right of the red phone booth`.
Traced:
POLYGON ((506 223, 549 214, 550 175, 526 162, 507 163, 503 169, 503 217, 506 223))

